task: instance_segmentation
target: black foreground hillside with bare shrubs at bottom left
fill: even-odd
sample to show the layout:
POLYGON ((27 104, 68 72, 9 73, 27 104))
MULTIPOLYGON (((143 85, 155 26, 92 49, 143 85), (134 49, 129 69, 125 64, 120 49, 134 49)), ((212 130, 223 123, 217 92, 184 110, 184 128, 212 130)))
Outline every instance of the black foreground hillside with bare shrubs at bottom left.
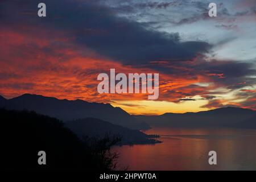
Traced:
POLYGON ((113 141, 85 143, 59 120, 34 112, 0 109, 0 121, 3 169, 110 170, 114 167, 115 155, 107 152, 113 141), (42 150, 46 152, 46 165, 38 164, 38 152, 42 150))

